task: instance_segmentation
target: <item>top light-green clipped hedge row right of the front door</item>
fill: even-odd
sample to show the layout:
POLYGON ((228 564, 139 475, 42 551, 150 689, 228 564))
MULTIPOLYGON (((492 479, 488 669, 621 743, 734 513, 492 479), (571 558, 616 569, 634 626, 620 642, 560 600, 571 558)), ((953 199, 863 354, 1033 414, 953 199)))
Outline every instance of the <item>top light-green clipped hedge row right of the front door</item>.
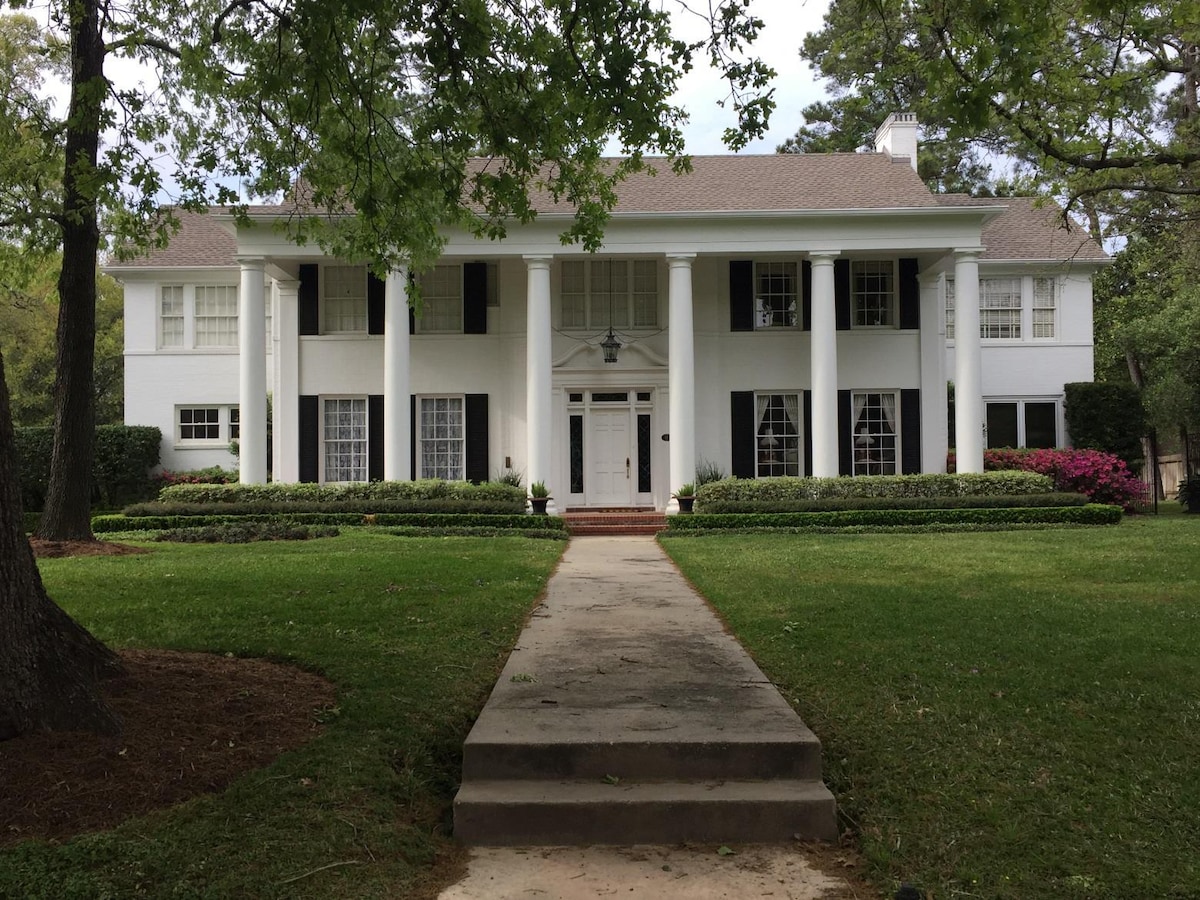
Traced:
POLYGON ((1054 481, 1032 472, 857 475, 841 478, 724 479, 696 490, 696 510, 708 503, 829 500, 850 497, 977 497, 1050 493, 1054 481))

